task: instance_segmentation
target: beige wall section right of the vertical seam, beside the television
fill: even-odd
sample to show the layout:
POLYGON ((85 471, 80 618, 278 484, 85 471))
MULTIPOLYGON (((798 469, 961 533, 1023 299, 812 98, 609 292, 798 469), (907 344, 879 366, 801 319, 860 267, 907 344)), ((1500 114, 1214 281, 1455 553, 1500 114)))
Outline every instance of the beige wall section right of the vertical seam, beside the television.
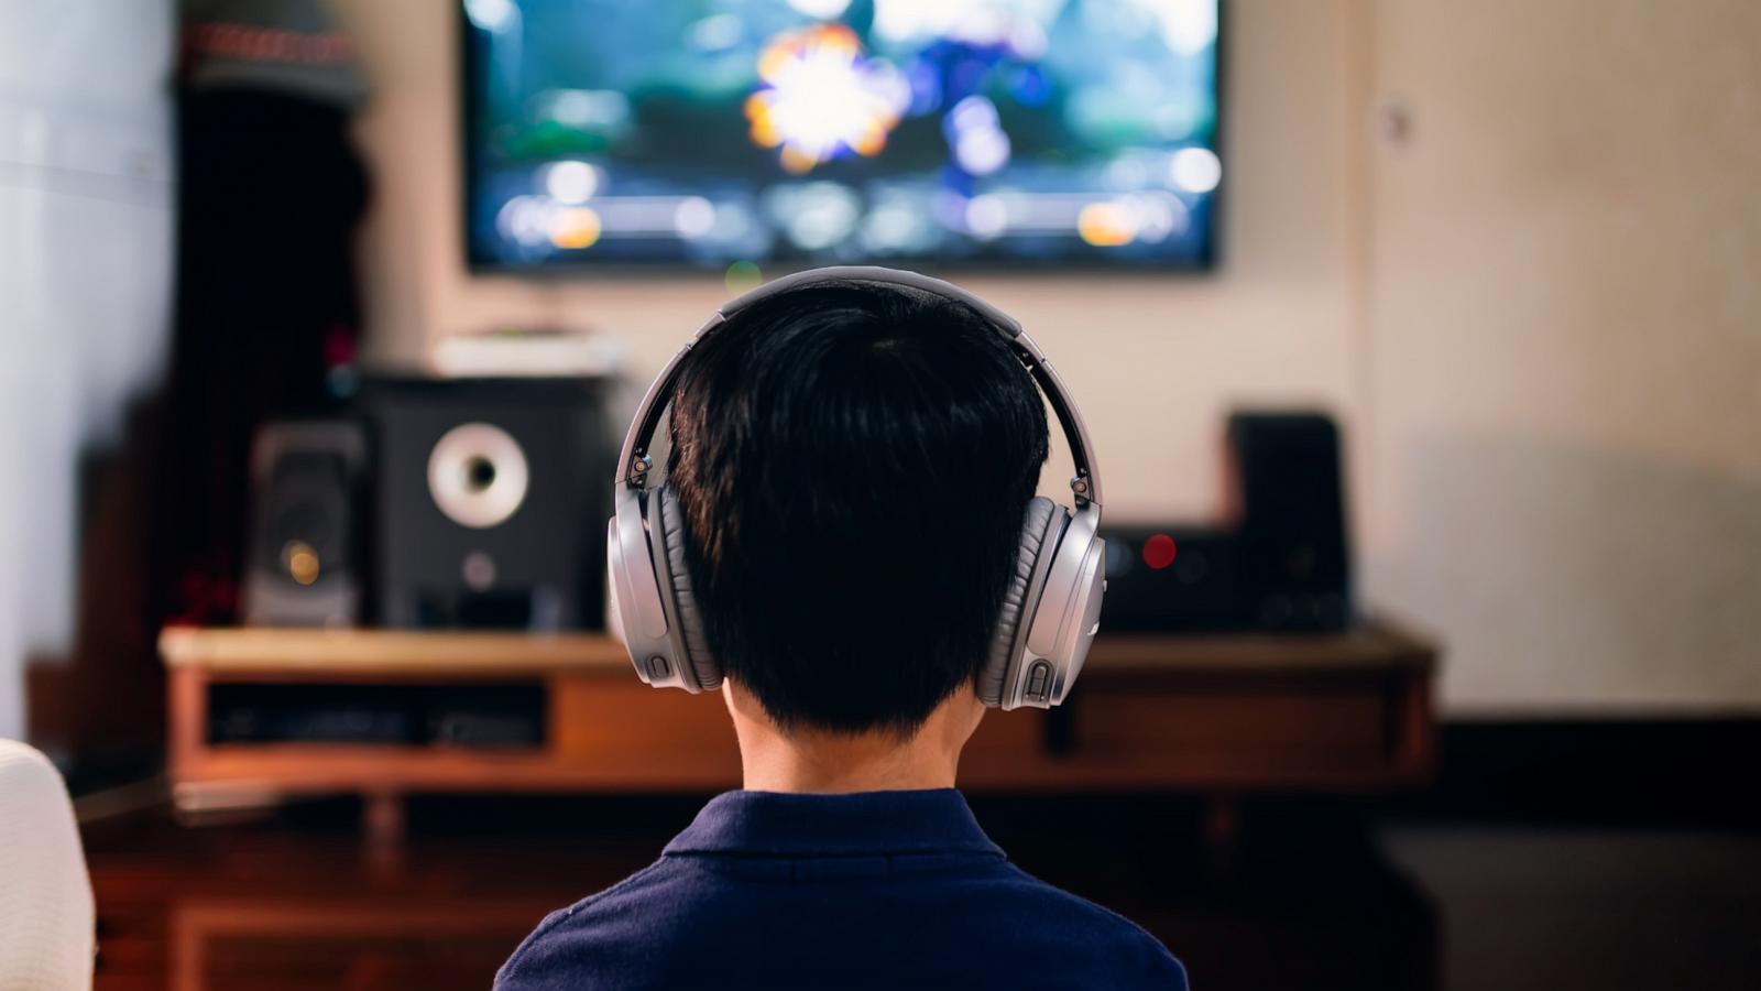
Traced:
POLYGON ((1761 707, 1761 4, 1377 4, 1379 601, 1458 709, 1761 707))

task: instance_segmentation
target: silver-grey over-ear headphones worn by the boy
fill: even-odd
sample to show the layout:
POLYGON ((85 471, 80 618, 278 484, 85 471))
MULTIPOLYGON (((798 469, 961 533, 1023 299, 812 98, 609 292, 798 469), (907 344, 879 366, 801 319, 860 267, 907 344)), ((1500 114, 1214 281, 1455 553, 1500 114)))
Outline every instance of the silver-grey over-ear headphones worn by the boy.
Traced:
POLYGON ((807 286, 868 282, 928 293, 963 303, 983 316, 1014 347, 1021 365, 1046 395, 1071 446, 1074 510, 1035 497, 1021 524, 1021 547, 1009 591, 977 677, 986 705, 1050 709, 1064 702, 1088 658, 1106 589, 1106 545, 1101 529, 1101 474, 1088 428, 1058 374, 1021 324, 984 300, 940 279, 893 268, 815 268, 777 279, 724 305, 660 370, 623 437, 615 480, 615 513, 606 533, 613 633, 623 640, 636 674, 655 688, 697 693, 718 688, 722 670, 703 635, 703 619, 685 566, 683 515, 671 487, 650 490, 653 458, 648 444, 671 402, 692 347, 747 307, 807 286))

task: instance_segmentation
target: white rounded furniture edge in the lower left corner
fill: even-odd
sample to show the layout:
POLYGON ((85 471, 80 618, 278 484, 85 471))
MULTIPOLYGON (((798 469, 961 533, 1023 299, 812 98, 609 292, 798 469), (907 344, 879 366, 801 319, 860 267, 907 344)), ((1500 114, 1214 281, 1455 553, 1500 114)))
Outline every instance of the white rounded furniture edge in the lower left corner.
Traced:
POLYGON ((0 987, 92 987, 95 915, 86 857, 62 776, 35 749, 0 741, 0 987))

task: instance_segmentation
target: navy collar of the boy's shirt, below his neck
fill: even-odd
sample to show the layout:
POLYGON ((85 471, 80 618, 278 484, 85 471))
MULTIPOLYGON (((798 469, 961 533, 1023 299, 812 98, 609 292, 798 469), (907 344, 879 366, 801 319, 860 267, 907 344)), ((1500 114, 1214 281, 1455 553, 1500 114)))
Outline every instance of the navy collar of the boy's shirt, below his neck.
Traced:
POLYGON ((953 788, 849 795, 724 792, 667 843, 666 853, 1004 855, 953 788))

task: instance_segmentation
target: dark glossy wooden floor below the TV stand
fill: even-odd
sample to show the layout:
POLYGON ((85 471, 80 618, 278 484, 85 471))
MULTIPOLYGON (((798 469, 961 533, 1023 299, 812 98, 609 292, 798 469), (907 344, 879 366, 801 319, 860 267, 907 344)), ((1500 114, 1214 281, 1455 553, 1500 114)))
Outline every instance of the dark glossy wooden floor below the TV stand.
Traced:
MULTIPOLYGON (((483 989, 546 912, 646 864, 699 802, 431 799, 412 806, 402 852, 363 846, 345 802, 201 829, 162 813, 113 820, 86 836, 100 928, 95 986, 483 989)), ((1648 987, 1622 984, 1606 959, 1590 966, 1571 956, 1585 952, 1573 931, 1622 933, 1622 919, 1650 926, 1650 943, 1696 949, 1682 954, 1673 972, 1684 980, 1673 986, 1761 987, 1761 942, 1743 938, 1745 926, 1761 935, 1761 896, 1745 901, 1745 882, 1728 876, 1731 890, 1713 892, 1698 917, 1691 899, 1648 910, 1647 885, 1680 889, 1669 868, 1678 859, 1655 836, 1645 855, 1622 857, 1606 838, 1580 846, 1560 834, 1537 845, 1499 831, 1421 831, 1400 834, 1384 857, 1375 832, 1351 815, 1296 806, 1249 809, 1242 845, 1206 853, 1192 802, 984 799, 974 808, 1016 862, 1136 919, 1203 991, 1477 989, 1490 986, 1488 973, 1543 980, 1495 982, 1502 987, 1648 987), (1550 869, 1564 869, 1587 898, 1573 901, 1550 869), (1500 908, 1500 885, 1522 905, 1500 908), (1451 959, 1463 931, 1479 943, 1451 959), (1500 947, 1511 956, 1488 961, 1500 947)), ((1715 850, 1729 871, 1761 866, 1754 838, 1715 850)), ((1696 869, 1719 875, 1705 853, 1696 869)), ((1645 972, 1666 963, 1654 957, 1645 972)))

